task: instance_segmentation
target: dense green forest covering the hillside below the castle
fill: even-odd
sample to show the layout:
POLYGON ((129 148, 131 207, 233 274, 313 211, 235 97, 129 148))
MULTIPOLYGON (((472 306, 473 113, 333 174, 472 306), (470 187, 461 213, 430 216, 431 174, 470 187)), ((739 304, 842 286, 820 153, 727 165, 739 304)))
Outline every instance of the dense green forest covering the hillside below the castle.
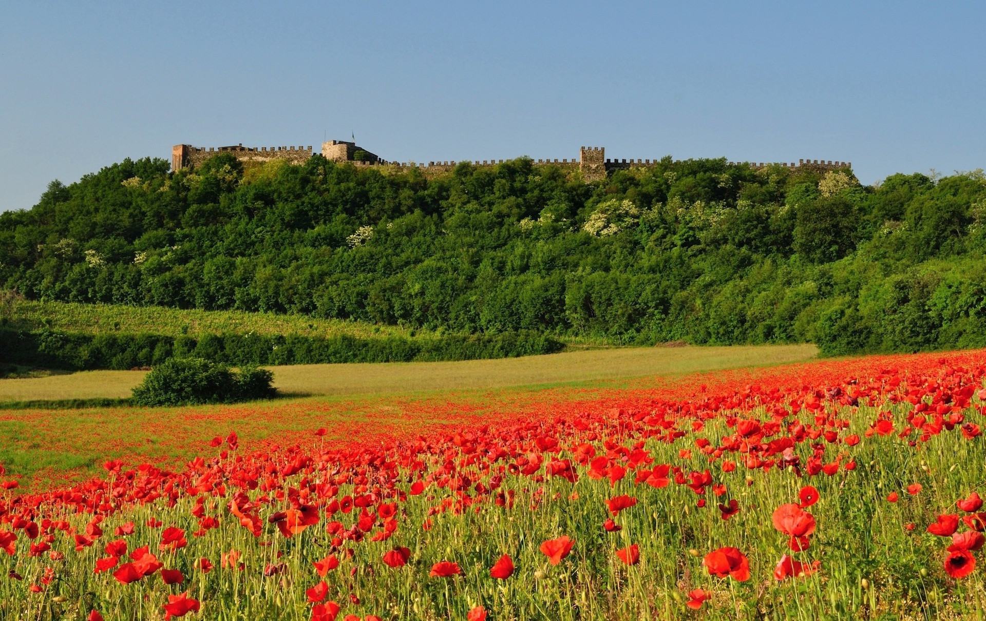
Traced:
POLYGON ((124 161, 0 216, 31 299, 307 313, 624 343, 986 345, 986 179, 527 159, 419 171, 124 161))

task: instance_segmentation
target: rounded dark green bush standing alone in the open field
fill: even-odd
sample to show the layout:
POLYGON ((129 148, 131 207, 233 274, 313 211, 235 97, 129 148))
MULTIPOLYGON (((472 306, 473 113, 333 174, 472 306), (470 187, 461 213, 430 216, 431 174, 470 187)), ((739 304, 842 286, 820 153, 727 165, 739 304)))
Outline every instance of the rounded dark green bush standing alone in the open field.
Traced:
POLYGON ((234 403, 273 397, 273 374, 247 367, 239 372, 201 358, 172 358, 133 389, 137 405, 234 403))

